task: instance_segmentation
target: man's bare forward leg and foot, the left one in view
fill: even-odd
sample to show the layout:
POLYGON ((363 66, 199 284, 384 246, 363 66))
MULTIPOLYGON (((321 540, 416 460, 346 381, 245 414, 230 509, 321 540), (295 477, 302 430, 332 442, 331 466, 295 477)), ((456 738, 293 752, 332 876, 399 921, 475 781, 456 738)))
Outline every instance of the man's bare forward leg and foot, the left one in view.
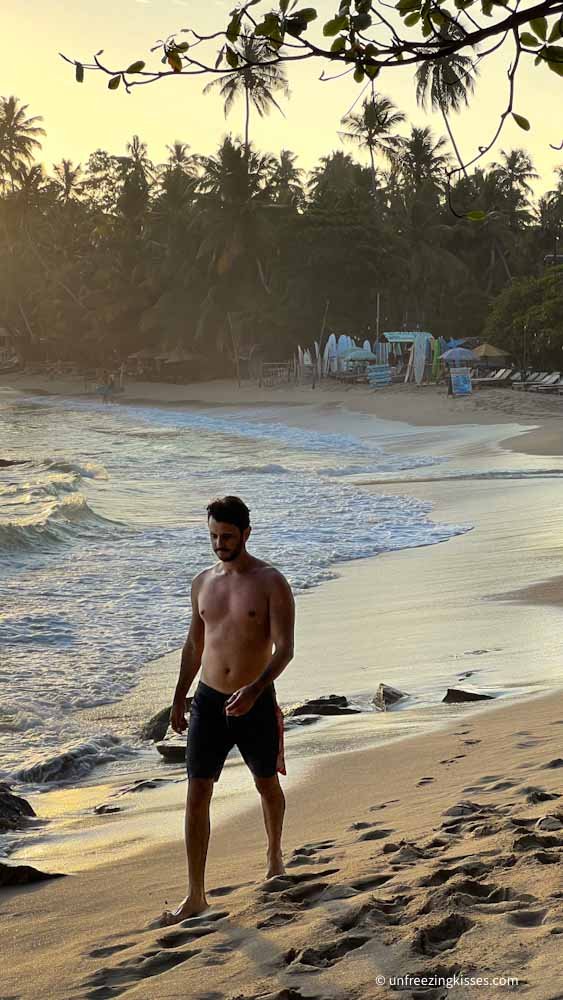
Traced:
POLYGON ((213 778, 190 778, 186 800, 186 853, 188 856, 188 895, 175 910, 167 910, 162 922, 168 926, 203 913, 209 903, 205 898, 205 862, 209 845, 209 806, 213 778))

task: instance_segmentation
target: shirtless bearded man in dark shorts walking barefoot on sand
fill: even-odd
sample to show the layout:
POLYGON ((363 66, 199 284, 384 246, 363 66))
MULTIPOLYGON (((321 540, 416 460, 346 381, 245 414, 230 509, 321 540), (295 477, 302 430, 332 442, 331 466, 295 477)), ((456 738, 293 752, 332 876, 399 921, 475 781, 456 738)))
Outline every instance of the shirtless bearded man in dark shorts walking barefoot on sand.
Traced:
POLYGON ((209 536, 219 562, 192 583, 192 621, 174 694, 170 724, 186 730, 186 695, 200 666, 190 709, 186 803, 188 894, 165 924, 202 913, 209 807, 213 784, 236 744, 262 799, 268 837, 266 878, 281 875, 285 798, 277 772, 285 774, 283 717, 273 681, 293 659, 295 605, 284 576, 246 551, 251 527, 238 497, 207 508, 209 536), (273 647, 275 646, 275 652, 273 647))

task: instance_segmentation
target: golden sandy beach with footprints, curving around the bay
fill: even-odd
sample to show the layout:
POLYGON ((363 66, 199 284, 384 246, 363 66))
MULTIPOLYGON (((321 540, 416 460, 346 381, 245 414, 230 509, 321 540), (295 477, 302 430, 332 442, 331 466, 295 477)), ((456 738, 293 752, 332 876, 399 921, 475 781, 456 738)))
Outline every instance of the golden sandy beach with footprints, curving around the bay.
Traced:
MULTIPOLYGON (((83 393, 77 382, 25 375, 0 385, 24 394, 83 393)), ((402 481, 400 492, 432 503, 433 518, 471 522, 473 530, 442 545, 344 564, 338 579, 300 598, 298 652, 279 691, 287 697, 290 671, 306 671, 323 656, 336 691, 342 669, 366 669, 370 690, 396 680, 408 690, 423 662, 435 664, 444 689, 469 675, 495 689, 496 664, 508 659, 512 697, 478 710, 448 706, 453 718, 444 706, 441 725, 434 720, 415 736, 401 729, 400 712, 389 712, 373 719, 389 726, 389 741, 369 749, 353 749, 352 722, 338 731, 345 752, 308 758, 304 748, 285 785, 287 875, 268 883, 261 811, 248 778, 237 810, 215 817, 211 909, 162 930, 149 924, 177 901, 184 880, 183 787, 174 784, 173 808, 147 817, 134 851, 112 856, 106 844, 85 870, 2 892, 2 996, 383 1000, 400 990, 465 1000, 510 989, 538 1000, 561 996, 558 480, 546 476, 540 489, 533 478, 475 475, 503 453, 521 455, 526 469, 534 462, 540 477, 547 472, 549 457, 563 455, 561 400, 509 390, 452 400, 434 387, 373 393, 225 382, 132 383, 120 400, 269 404, 286 407, 288 420, 293 411, 296 421, 311 407, 312 421, 331 426, 345 410, 427 428, 425 447, 432 428, 467 428, 457 439, 457 475, 435 468, 402 481), (535 687, 525 681, 530 657, 539 663, 535 687), (442 981, 396 980, 432 975, 442 981)), ((391 476, 362 486, 399 491, 391 476)), ((174 669, 164 665, 159 683, 174 669)), ((105 819, 109 843, 112 817, 105 819)))

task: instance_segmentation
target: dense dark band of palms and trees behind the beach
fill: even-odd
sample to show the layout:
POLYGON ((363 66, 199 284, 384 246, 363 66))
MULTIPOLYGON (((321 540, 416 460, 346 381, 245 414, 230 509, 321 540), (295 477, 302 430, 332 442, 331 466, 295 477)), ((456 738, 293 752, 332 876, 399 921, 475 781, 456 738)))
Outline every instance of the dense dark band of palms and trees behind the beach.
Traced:
MULTIPOLYGON (((441 87, 421 81, 438 102, 441 87)), ((506 317, 523 289, 537 351, 552 351, 563 278, 544 258, 563 221, 563 168, 535 203, 528 153, 507 150, 448 192, 445 140, 409 128, 378 93, 342 131, 369 166, 341 149, 307 175, 290 150, 276 158, 232 136, 207 157, 173 142, 158 164, 133 136, 123 155, 96 150, 47 174, 41 120, 0 99, 0 326, 30 359, 180 346, 224 370, 234 341, 283 359, 318 338, 325 313, 328 329, 373 339, 378 295, 382 330, 485 330, 512 349, 519 321, 506 317)))

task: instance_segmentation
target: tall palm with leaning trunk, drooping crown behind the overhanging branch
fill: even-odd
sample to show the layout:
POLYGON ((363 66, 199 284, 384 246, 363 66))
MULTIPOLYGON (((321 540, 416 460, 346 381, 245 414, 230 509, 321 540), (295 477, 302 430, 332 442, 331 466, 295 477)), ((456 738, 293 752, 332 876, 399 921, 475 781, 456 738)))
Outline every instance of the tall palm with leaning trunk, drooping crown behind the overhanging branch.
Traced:
POLYGON ((448 115, 461 111, 464 104, 469 104, 469 97, 475 89, 477 72, 477 67, 469 56, 455 53, 433 62, 420 63, 415 74, 417 103, 426 109, 430 100, 432 111, 441 112, 450 142, 466 177, 467 171, 454 139, 448 115))

